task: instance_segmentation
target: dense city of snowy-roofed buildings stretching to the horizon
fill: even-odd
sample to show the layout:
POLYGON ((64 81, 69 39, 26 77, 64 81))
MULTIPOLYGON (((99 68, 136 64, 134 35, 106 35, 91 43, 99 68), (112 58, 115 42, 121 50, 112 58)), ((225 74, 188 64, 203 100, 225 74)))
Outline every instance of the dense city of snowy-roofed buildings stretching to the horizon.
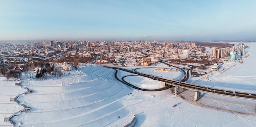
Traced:
MULTIPOLYGON (((94 64, 130 64, 132 66, 156 66, 158 62, 170 61, 173 63, 194 64, 198 69, 218 71, 218 67, 213 67, 220 64, 222 61, 236 61, 242 63, 242 58, 245 55, 245 43, 238 45, 229 43, 209 43, 212 45, 211 51, 207 51, 201 46, 204 42, 193 41, 39 41, 39 42, 17 42, 10 44, 2 44, 0 47, 1 57, 1 73, 9 79, 11 72, 16 72, 16 78, 20 78, 20 71, 37 70, 40 65, 40 70, 46 71, 47 64, 56 64, 70 62, 69 68, 77 70, 78 63, 94 63, 94 64), (222 47, 216 49, 216 47, 222 47), (36 64, 38 63, 38 64, 36 64), (32 65, 32 66, 31 66, 32 65), (11 71, 11 72, 10 72, 11 71)), ((204 43, 205 44, 205 43, 204 43)), ((66 64, 67 65, 67 64, 66 64)), ((54 68, 47 71, 54 71, 54 68)), ((66 70, 66 69, 64 69, 66 70)), ((72 69, 68 69, 72 70, 72 69)), ((39 71, 39 73, 42 73, 39 71)), ((52 74, 60 74, 61 70, 51 72, 52 74), (57 72, 58 71, 58 72, 57 72)), ((49 72, 50 74, 50 72, 49 72)), ((65 74, 65 73, 64 73, 65 74)), ((30 75, 30 78, 32 75, 30 75)), ((43 76, 43 75, 41 75, 43 76)), ((28 78, 28 77, 27 77, 28 78)))

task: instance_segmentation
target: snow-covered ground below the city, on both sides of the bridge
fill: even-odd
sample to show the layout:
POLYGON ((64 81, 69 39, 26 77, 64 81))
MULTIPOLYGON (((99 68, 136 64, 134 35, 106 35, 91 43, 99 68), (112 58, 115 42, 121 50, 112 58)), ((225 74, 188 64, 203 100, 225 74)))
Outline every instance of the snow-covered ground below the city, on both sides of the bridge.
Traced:
MULTIPOLYGON (((208 79, 189 79, 199 85, 256 93, 256 43, 246 43, 250 56, 243 64, 225 62, 226 71, 211 72, 208 79), (232 66, 235 65, 235 66, 232 66), (211 81, 212 80, 212 81, 211 81)), ((151 68, 138 69, 165 78, 178 80, 182 73, 155 72, 151 68), (167 74, 168 73, 168 74, 167 74)), ((196 103, 193 91, 174 96, 170 89, 140 91, 127 87, 115 79, 115 70, 88 65, 72 75, 47 80, 24 80, 22 86, 33 90, 18 97, 20 103, 31 107, 11 120, 21 127, 123 127, 137 119, 135 127, 256 127, 256 101, 202 94, 196 103), (81 75, 81 76, 80 76, 81 75), (173 105, 177 105, 173 107, 173 105)), ((118 71, 117 76, 131 75, 118 71)), ((27 91, 0 77, 0 126, 12 127, 5 117, 24 109, 14 98, 27 91)), ((162 87, 160 82, 141 76, 127 76, 127 82, 141 87, 162 87)))

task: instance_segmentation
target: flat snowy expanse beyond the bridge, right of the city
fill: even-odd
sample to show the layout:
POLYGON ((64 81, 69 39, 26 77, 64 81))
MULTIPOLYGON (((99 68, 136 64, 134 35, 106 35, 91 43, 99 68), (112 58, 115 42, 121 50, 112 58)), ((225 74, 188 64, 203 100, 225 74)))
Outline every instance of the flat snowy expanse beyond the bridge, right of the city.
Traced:
POLYGON ((243 63, 238 62, 224 62, 220 71, 211 71, 208 76, 209 80, 203 79, 192 83, 199 85, 207 85, 210 87, 229 89, 234 91, 244 91, 256 93, 256 43, 246 43, 251 47, 249 53, 251 55, 243 59, 243 63), (224 69, 224 71, 222 70, 224 69))

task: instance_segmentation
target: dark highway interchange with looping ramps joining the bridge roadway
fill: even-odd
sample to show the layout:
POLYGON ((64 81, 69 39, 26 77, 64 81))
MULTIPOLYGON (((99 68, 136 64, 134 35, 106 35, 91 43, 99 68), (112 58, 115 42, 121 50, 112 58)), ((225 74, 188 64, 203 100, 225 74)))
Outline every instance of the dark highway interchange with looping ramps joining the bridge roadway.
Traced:
MULTIPOLYGON (((165 64, 168 64, 165 62, 165 64)), ((161 90, 165 90, 165 89, 169 89, 173 86, 179 86, 183 89, 190 89, 190 90, 194 90, 194 91, 200 91, 203 93, 209 93, 209 94, 216 94, 216 95, 221 95, 221 96, 229 96, 229 97, 234 97, 234 98, 243 98, 243 99, 249 99, 249 100, 256 100, 256 94, 255 93, 247 93, 247 92, 241 92, 241 91, 231 91, 231 90, 227 90, 227 89, 217 89, 217 88, 213 88, 213 87, 206 87, 206 86, 202 86, 202 85, 195 85, 195 84, 191 84, 191 83, 187 83, 186 80, 189 79, 189 69, 182 69, 182 71, 184 72, 184 78, 181 81, 176 81, 176 80, 171 80, 171 79, 166 79, 166 78, 162 78, 162 77, 157 77, 157 76, 153 76, 150 74, 144 74, 144 73, 140 73, 137 72, 136 69, 135 70, 127 70, 121 67, 113 67, 113 66, 105 66, 108 68, 112 68, 112 69, 118 69, 118 70, 122 70, 122 71, 126 71, 135 75, 139 75, 139 76, 144 76, 146 78, 151 78, 153 80, 159 80, 162 82, 165 82, 166 87, 162 87, 159 89, 143 89, 143 88, 139 88, 136 87, 134 85, 131 85, 130 83, 124 81, 124 77, 122 78, 122 80, 120 80, 117 77, 117 72, 116 72, 116 78, 118 80, 120 80, 121 82, 124 82, 126 85, 133 87, 135 89, 139 89, 139 90, 143 90, 143 91, 161 91, 161 90)))

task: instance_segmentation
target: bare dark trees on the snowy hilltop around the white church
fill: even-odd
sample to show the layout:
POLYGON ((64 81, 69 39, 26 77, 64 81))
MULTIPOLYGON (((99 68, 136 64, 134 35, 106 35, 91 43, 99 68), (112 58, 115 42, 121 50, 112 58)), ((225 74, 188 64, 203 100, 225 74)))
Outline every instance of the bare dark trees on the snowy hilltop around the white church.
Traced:
POLYGON ((7 79, 9 78, 20 78, 21 72, 25 73, 25 76, 27 78, 33 78, 33 72, 36 69, 36 67, 40 67, 41 69, 37 69, 36 71, 36 78, 45 78, 47 74, 49 76, 59 76, 61 77, 63 74, 69 74, 68 70, 62 70, 62 63, 64 61, 69 62, 74 69, 78 69, 78 67, 81 65, 81 63, 86 63, 87 61, 94 60, 95 57, 81 57, 78 55, 72 56, 72 57, 66 57, 64 59, 56 59, 56 60, 30 60, 27 63, 24 63, 21 67, 18 67, 18 63, 6 63, 7 66, 2 66, 0 69, 0 74, 3 76, 6 76, 7 79), (22 68, 22 69, 20 69, 22 68))

